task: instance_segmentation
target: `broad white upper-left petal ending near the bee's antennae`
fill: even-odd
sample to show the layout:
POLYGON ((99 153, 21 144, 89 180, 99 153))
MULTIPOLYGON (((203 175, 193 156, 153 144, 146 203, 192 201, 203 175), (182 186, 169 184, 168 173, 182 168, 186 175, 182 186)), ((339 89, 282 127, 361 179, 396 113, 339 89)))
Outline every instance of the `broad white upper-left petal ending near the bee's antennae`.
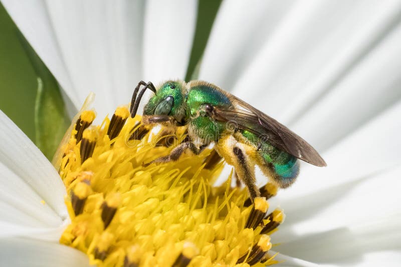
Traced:
POLYGON ((143 1, 3 1, 76 110, 96 93, 100 120, 142 76, 143 1))

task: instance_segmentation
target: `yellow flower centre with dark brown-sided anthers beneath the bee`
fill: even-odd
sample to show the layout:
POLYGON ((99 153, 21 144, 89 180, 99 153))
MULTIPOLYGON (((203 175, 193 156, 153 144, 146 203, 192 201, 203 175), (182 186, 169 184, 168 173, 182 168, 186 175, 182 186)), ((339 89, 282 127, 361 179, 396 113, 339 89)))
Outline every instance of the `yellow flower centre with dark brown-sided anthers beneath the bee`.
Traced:
MULTIPOLYGON (((127 107, 118 107, 100 125, 92 125, 95 114, 81 113, 61 149, 59 174, 71 217, 62 244, 83 251, 98 266, 277 262, 268 253, 270 234, 284 213, 269 213, 267 200, 277 188, 266 185, 266 193, 252 203, 245 188, 231 186, 231 175, 214 185, 225 162, 212 148, 152 163, 174 145, 157 145, 160 133, 139 116, 131 118, 127 107)), ((173 135, 174 143, 184 141, 185 128, 173 135)))

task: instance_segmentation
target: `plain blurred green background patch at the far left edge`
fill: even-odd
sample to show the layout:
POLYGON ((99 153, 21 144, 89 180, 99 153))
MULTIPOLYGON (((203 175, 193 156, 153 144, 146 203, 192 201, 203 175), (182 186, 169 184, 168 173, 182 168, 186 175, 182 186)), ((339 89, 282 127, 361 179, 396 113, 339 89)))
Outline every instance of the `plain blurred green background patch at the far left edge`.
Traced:
POLYGON ((35 141, 37 74, 21 44, 19 30, 0 2, 0 109, 35 141))

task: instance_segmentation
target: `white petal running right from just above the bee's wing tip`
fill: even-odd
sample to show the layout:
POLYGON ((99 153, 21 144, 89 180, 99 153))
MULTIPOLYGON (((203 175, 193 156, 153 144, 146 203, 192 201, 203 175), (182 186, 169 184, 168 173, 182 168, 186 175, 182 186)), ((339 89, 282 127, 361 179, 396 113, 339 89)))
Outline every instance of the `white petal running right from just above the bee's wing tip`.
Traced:
POLYGON ((304 114, 298 112, 291 128, 323 151, 401 99, 401 60, 394 60, 401 57, 400 39, 398 23, 331 91, 304 114))

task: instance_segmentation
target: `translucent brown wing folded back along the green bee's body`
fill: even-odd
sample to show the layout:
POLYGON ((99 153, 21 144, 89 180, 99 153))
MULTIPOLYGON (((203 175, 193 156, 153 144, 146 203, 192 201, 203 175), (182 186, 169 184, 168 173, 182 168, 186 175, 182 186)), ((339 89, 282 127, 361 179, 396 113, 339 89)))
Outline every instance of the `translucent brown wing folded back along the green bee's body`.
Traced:
POLYGON ((216 107, 214 113, 217 120, 231 121, 301 160, 316 166, 326 166, 319 153, 299 135, 240 98, 230 96, 235 108, 216 107))

